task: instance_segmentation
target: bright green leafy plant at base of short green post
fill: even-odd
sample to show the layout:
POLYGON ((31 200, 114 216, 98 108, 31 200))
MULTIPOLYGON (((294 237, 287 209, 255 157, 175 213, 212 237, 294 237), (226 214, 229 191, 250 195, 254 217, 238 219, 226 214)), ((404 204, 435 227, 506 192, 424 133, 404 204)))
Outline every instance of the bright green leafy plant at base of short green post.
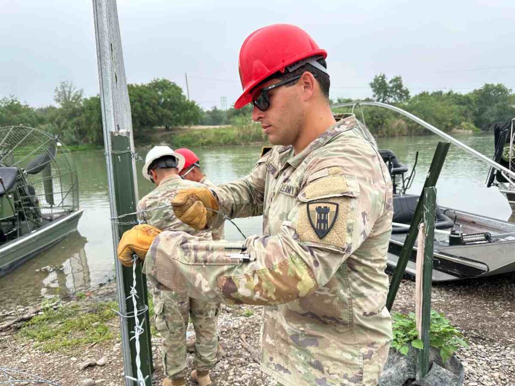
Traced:
MULTIPOLYGON (((422 349, 424 344, 418 339, 415 313, 392 314, 393 341, 391 346, 407 355, 409 346, 422 349)), ((447 361, 460 347, 469 348, 465 337, 442 313, 431 310, 430 345, 439 350, 443 362, 447 361)))

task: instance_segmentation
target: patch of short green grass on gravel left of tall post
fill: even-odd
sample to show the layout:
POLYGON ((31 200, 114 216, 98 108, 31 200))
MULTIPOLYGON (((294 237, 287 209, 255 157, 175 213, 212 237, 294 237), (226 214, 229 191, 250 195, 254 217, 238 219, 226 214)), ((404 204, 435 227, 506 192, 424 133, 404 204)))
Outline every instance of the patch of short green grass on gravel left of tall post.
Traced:
POLYGON ((18 334, 24 340, 32 340, 35 347, 44 352, 104 342, 115 338, 108 323, 117 321, 112 311, 117 308, 116 302, 71 303, 57 309, 46 307, 18 334))

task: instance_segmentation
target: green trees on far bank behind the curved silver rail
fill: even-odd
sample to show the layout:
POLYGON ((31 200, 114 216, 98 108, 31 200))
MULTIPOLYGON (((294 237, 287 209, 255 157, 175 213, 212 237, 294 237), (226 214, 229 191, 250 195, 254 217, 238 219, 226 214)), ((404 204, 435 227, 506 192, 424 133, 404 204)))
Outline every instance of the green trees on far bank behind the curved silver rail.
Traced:
MULTIPOLYGON (((467 131, 492 130, 496 122, 515 117, 515 95, 504 84, 485 83, 466 94, 454 91, 422 91, 410 96, 400 76, 388 80, 379 74, 369 83, 373 98, 393 104, 436 126, 444 132, 455 129, 467 131)), ((338 99, 336 103, 351 99, 338 99)), ((415 122, 393 111, 365 107, 363 109, 368 129, 378 136, 419 135, 428 131, 415 122)), ((359 111, 361 115, 361 111, 359 111)))

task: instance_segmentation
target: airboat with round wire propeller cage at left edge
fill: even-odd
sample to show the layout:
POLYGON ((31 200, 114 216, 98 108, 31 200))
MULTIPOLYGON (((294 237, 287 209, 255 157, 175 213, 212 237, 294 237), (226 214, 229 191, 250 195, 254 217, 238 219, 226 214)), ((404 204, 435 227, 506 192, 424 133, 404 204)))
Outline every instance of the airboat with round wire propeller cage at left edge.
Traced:
POLYGON ((59 138, 0 128, 0 276, 77 230, 77 171, 59 138))

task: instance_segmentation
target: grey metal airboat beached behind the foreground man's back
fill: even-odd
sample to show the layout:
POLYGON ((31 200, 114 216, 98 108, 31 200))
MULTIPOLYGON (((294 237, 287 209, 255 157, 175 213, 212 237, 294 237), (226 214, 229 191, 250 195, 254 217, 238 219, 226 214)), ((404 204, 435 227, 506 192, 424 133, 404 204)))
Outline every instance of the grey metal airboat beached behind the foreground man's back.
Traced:
MULTIPOLYGON (((499 178, 504 178, 507 182, 515 181, 515 172, 499 162, 500 156, 497 159, 494 156, 494 160, 490 160, 485 155, 398 107, 381 102, 365 101, 337 104, 332 106, 332 108, 354 108, 360 104, 396 111, 441 136, 446 141, 469 152, 480 161, 487 163, 491 167, 487 183, 488 181, 492 183, 493 179, 498 176, 499 178)), ((366 128, 364 134, 375 144, 373 137, 366 128)), ((511 124, 510 135, 512 138, 513 124, 511 124)), ((501 139, 499 143, 499 148, 504 149, 506 153, 504 139, 501 139)), ((414 218, 415 208, 419 200, 419 196, 407 193, 411 182, 413 182, 418 153, 415 156, 411 172, 409 172, 406 165, 397 159, 397 156, 391 150, 382 149, 379 150, 379 153, 388 166, 393 183, 393 224, 387 261, 387 272, 392 273, 397 266, 409 224, 414 218)), ((511 157, 515 154, 512 153, 512 150, 509 150, 508 155, 511 157)), ((499 180, 497 181, 499 182, 499 180)), ((417 248, 414 247, 405 271, 405 276, 410 279, 415 279, 416 255, 417 248)), ((433 253, 433 282, 449 282, 513 271, 515 271, 515 223, 464 212, 456 208, 437 206, 433 253)))

